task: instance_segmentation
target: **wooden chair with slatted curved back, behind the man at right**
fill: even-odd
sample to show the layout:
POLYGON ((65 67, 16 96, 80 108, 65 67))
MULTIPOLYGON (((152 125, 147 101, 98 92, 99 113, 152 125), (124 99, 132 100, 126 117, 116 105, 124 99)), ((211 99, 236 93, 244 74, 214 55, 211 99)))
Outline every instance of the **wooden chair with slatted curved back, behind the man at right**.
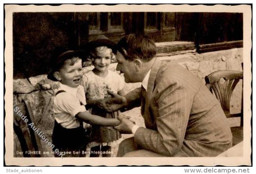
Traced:
MULTIPOLYGON (((240 126, 231 127, 233 146, 243 140, 243 102, 241 113, 230 113, 230 99, 235 86, 243 78, 243 72, 234 70, 219 70, 205 77, 206 86, 215 94, 227 118, 241 117, 240 126)), ((243 101, 243 97, 242 97, 243 101)))

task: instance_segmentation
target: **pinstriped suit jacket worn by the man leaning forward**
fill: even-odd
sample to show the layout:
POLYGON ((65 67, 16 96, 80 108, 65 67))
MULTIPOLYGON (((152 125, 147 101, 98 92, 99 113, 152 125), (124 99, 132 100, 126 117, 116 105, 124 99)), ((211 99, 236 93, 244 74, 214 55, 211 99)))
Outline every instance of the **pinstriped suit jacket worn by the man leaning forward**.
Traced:
MULTIPOLYGON (((141 104, 141 88, 126 95, 141 104)), ((156 60, 147 87, 143 118, 134 140, 144 149, 176 157, 211 157, 232 146, 220 103, 202 80, 172 61, 156 60)))

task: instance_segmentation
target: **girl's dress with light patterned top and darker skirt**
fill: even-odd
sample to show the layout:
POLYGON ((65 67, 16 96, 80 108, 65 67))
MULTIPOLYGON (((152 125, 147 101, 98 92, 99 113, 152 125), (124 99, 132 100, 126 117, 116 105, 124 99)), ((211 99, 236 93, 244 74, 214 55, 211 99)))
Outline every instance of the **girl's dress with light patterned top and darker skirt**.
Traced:
MULTIPOLYGON (((82 77, 82 86, 84 86, 87 101, 104 99, 109 96, 107 90, 114 93, 122 90, 124 87, 124 79, 118 73, 111 70, 108 70, 106 77, 100 77, 94 74, 93 71, 89 71, 82 77)), ((107 112, 97 106, 89 108, 88 111, 91 114, 105 118, 117 118, 117 115, 119 114, 119 111, 107 112)), ((98 145, 113 146, 114 142, 119 138, 121 138, 121 134, 113 127, 92 126, 92 134, 88 148, 98 145)))

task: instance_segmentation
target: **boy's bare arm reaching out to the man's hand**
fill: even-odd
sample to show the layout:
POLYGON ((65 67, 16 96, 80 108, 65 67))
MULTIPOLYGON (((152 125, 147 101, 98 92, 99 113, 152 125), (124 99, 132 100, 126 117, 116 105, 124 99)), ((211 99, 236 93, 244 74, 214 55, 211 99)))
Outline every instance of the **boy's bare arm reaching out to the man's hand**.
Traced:
POLYGON ((97 115, 92 115, 88 111, 76 114, 76 118, 80 118, 82 121, 89 123, 90 125, 117 126, 120 124, 118 119, 104 118, 97 115))

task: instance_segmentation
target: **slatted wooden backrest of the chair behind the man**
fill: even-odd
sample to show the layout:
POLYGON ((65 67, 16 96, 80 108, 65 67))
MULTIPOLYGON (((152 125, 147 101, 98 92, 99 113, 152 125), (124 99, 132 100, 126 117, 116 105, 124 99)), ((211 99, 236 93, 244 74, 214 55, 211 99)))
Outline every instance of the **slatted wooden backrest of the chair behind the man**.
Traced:
POLYGON ((206 86, 214 92, 226 115, 230 114, 232 92, 242 78, 243 72, 234 70, 219 70, 205 77, 206 86))

